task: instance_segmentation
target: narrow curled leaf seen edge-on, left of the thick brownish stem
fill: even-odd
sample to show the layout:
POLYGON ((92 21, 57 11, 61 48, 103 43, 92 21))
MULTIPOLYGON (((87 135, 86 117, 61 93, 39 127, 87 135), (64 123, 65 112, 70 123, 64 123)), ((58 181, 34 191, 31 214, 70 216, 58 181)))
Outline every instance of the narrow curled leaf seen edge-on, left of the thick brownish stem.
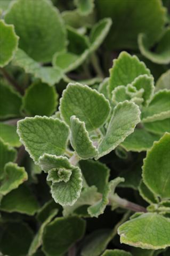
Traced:
POLYGON ((114 195, 117 185, 123 181, 124 181, 124 178, 117 177, 116 179, 111 180, 106 185, 100 201, 96 202, 94 205, 88 207, 88 209, 87 209, 87 211, 91 215, 91 217, 98 218, 100 214, 103 214, 106 206, 109 203, 109 197, 111 195, 114 195))

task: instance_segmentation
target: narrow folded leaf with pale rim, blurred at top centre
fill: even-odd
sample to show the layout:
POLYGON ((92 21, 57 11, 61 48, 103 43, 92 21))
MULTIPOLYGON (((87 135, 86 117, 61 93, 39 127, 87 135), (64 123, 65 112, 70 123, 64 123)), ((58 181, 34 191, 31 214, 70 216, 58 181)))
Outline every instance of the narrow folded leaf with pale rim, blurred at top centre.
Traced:
POLYGON ((90 32, 90 51, 96 51, 109 33, 112 21, 104 18, 96 23, 90 32))

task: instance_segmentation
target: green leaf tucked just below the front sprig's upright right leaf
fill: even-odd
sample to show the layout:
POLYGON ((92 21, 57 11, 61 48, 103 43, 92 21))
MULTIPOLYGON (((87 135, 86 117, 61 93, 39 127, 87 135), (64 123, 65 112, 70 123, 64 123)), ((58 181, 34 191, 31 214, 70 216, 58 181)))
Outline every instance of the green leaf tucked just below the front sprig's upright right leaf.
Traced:
POLYGON ((153 142, 160 139, 160 135, 152 134, 145 129, 135 129, 123 142, 122 147, 127 151, 141 152, 151 148, 153 142))

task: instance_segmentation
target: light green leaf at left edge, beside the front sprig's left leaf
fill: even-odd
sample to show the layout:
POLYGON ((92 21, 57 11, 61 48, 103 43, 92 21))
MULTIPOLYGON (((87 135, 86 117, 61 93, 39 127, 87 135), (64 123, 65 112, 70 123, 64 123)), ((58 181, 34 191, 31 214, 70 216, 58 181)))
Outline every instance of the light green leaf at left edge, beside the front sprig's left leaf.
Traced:
POLYGON ((12 147, 20 147, 21 142, 17 134, 17 127, 5 123, 0 123, 1 138, 5 143, 9 143, 12 147))

